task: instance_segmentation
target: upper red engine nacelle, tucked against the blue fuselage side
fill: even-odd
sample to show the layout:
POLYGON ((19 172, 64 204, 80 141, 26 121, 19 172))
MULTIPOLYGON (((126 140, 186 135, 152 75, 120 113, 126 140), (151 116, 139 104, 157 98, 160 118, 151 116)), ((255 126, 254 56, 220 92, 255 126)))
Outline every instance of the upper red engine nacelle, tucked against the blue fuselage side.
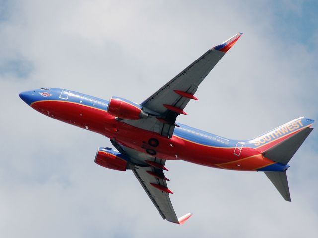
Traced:
POLYGON ((138 120, 148 117, 148 114, 142 110, 142 106, 119 97, 110 98, 107 112, 121 119, 138 120))

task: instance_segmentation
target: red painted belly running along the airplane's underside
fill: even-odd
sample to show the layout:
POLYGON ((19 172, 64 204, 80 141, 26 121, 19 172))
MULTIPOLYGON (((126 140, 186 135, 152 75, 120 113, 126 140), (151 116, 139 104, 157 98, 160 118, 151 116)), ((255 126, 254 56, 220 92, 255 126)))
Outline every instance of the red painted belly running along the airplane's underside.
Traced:
POLYGON ((235 148, 211 147, 187 141, 177 136, 171 139, 157 133, 133 127, 115 120, 105 110, 67 101, 39 101, 32 108, 54 119, 88 129, 116 139, 124 146, 147 153, 153 150, 156 157, 166 160, 185 160, 210 167, 231 170, 255 170, 269 165, 271 160, 258 151, 244 147, 240 156, 235 148), (159 145, 150 146, 148 140, 156 138, 159 145))

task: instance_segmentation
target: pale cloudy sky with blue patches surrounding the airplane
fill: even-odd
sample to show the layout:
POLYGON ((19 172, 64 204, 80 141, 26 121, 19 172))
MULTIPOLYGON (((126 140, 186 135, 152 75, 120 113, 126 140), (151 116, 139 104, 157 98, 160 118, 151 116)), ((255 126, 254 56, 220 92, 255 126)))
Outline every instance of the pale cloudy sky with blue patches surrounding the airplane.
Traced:
POLYGON ((177 215, 194 213, 178 226, 131 171, 94 163, 109 139, 18 96, 56 87, 142 102, 243 32, 177 121, 233 139, 317 121, 317 11, 310 0, 0 0, 0 237, 317 237, 316 129, 290 161, 291 203, 261 172, 167 161, 177 215))

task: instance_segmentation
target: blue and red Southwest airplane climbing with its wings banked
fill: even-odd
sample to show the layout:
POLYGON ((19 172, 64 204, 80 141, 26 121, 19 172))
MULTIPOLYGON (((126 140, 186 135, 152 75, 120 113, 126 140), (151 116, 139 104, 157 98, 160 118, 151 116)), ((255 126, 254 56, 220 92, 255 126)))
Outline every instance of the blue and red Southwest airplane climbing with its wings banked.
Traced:
POLYGON ((183 224, 192 213, 175 214, 167 160, 238 171, 262 171, 286 201, 291 201, 288 162, 310 134, 314 120, 300 117, 250 140, 230 140, 176 123, 185 106, 198 100, 199 84, 241 37, 238 33, 209 49, 142 103, 121 97, 109 101, 68 89, 40 88, 20 93, 36 111, 106 136, 115 147, 99 147, 95 162, 108 169, 132 170, 167 221, 183 224))

